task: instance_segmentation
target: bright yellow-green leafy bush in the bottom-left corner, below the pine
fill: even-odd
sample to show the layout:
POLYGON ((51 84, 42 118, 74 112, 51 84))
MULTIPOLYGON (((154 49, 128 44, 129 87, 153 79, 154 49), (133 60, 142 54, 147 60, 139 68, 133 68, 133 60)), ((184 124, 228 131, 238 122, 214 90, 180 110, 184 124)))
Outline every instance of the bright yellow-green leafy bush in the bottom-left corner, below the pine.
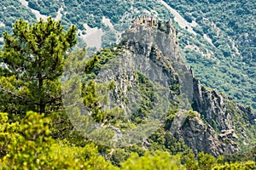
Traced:
POLYGON ((6 113, 0 118, 0 169, 115 169, 93 144, 52 139, 44 115, 28 111, 20 123, 9 123, 6 113))

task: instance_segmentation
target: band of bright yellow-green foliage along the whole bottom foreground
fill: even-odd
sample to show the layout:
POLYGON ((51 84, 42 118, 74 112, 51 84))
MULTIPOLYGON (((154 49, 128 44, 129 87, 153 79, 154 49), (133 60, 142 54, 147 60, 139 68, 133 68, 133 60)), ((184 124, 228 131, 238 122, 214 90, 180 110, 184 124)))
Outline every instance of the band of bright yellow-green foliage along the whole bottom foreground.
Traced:
MULTIPOLYGON (((28 111, 19 123, 8 122, 8 114, 0 113, 0 122, 0 169, 119 169, 100 156, 94 144, 80 147, 67 140, 52 139, 51 120, 44 115, 28 111)), ((122 153, 119 151, 112 159, 120 160, 122 153)), ((141 156, 131 152, 131 156, 121 159, 120 169, 253 169, 256 166, 253 161, 224 163, 221 156, 216 159, 203 153, 197 157, 196 160, 191 153, 174 156, 157 150, 141 156)))

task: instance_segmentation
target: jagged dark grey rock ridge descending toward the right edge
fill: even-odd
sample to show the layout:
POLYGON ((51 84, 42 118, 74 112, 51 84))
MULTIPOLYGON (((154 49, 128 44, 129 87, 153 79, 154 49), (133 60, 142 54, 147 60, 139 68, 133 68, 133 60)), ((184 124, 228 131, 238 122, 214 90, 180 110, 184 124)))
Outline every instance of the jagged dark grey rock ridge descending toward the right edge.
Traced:
POLYGON ((218 139, 224 142, 226 150, 229 150, 228 153, 236 151, 233 146, 238 140, 247 144, 247 134, 253 133, 255 129, 256 115, 250 109, 236 104, 215 89, 207 90, 201 87, 198 80, 194 80, 192 107, 194 111, 200 112, 201 117, 218 132, 218 139), (228 132, 232 132, 232 135, 228 132))

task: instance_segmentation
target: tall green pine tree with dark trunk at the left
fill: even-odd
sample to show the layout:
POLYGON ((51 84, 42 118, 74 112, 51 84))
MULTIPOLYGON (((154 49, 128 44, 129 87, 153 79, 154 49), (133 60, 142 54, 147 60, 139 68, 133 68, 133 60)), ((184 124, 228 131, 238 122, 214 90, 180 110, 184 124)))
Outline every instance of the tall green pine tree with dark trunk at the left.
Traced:
POLYGON ((49 113, 61 106, 59 77, 64 55, 76 42, 76 27, 63 30, 52 18, 28 24, 17 20, 12 34, 3 33, 0 52, 0 111, 49 113))

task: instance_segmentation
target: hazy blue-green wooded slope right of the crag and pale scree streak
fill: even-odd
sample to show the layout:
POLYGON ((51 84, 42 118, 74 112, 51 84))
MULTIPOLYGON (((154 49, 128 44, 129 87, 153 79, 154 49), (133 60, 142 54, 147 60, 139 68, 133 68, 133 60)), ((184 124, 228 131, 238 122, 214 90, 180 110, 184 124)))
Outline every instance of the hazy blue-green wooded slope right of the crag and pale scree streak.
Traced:
POLYGON ((194 27, 197 35, 192 39, 197 38, 200 43, 187 36, 180 41, 196 77, 208 87, 218 88, 256 108, 256 2, 166 0, 166 3, 189 22, 195 20, 198 24, 194 27))

